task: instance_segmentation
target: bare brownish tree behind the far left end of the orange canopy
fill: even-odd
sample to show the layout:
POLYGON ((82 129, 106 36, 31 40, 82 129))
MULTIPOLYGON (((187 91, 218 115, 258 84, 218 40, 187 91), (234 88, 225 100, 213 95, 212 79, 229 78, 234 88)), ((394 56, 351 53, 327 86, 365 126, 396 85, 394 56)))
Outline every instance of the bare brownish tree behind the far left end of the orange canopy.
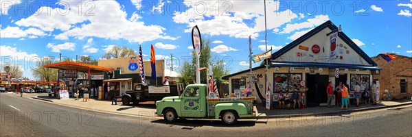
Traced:
POLYGON ((38 60, 36 62, 36 67, 32 69, 33 76, 36 79, 40 79, 41 81, 56 82, 58 70, 44 67, 46 64, 52 64, 52 63, 53 63, 53 59, 47 56, 38 60))

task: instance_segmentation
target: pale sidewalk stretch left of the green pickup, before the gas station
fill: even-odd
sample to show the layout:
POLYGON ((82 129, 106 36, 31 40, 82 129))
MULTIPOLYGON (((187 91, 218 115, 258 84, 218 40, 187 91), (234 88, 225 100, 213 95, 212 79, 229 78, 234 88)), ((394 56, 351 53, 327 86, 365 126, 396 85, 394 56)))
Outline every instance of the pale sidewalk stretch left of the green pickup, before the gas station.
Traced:
POLYGON ((156 105, 154 105, 154 102, 142 102, 139 105, 122 105, 122 102, 117 102, 117 105, 111 105, 111 101, 108 100, 90 99, 90 101, 83 101, 83 99, 75 100, 74 98, 55 99, 54 97, 48 97, 47 94, 25 94, 23 97, 50 101, 59 105, 81 108, 84 110, 125 114, 129 116, 154 117, 156 112, 156 105))

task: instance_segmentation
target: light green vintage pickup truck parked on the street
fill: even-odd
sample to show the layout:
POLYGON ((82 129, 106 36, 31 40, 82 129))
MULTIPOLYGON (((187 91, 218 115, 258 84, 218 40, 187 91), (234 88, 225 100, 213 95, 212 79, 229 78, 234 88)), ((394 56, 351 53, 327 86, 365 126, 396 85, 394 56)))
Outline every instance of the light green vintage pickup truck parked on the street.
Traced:
POLYGON ((255 116, 253 100, 255 97, 208 99, 209 86, 191 84, 186 86, 180 96, 164 97, 156 101, 157 116, 174 122, 178 118, 188 119, 221 119, 231 125, 238 118, 255 116))

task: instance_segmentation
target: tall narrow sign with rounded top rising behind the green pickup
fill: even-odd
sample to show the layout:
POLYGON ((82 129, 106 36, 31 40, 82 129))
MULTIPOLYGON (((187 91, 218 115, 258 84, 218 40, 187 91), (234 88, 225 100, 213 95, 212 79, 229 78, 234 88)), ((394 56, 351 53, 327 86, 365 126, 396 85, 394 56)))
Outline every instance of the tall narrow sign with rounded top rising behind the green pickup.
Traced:
POLYGON ((200 68, 199 58, 201 58, 202 37, 197 25, 192 27, 192 45, 196 52, 196 84, 201 84, 201 71, 197 70, 200 68))

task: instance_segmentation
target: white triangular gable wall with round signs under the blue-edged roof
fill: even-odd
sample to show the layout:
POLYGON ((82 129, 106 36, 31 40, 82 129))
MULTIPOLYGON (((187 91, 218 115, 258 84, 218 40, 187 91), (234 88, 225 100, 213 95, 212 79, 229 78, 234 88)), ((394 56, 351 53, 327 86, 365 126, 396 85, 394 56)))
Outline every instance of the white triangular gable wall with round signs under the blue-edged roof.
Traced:
POLYGON ((326 27, 321 32, 318 32, 311 38, 308 38, 304 42, 301 42, 301 46, 308 47, 308 51, 299 49, 299 45, 287 51, 279 58, 276 58, 275 62, 317 62, 317 63, 334 63, 334 64, 355 64, 355 65, 364 65, 372 66, 367 63, 361 55, 358 55, 352 48, 349 47, 348 43, 345 43, 341 38, 338 38, 336 55, 338 58, 331 60, 330 56, 330 44, 329 37, 326 36, 329 32, 332 32, 331 29, 326 27), (340 47, 339 45, 343 45, 340 47), (319 53, 312 52, 312 46, 319 45, 319 53), (346 47, 346 49, 345 49, 346 47), (324 48, 324 52, 323 52, 324 48), (341 52, 340 52, 341 51, 341 52), (347 53, 349 51, 349 53, 347 53), (299 57, 297 54, 300 53, 299 57), (342 59, 341 59, 342 56, 342 59))

